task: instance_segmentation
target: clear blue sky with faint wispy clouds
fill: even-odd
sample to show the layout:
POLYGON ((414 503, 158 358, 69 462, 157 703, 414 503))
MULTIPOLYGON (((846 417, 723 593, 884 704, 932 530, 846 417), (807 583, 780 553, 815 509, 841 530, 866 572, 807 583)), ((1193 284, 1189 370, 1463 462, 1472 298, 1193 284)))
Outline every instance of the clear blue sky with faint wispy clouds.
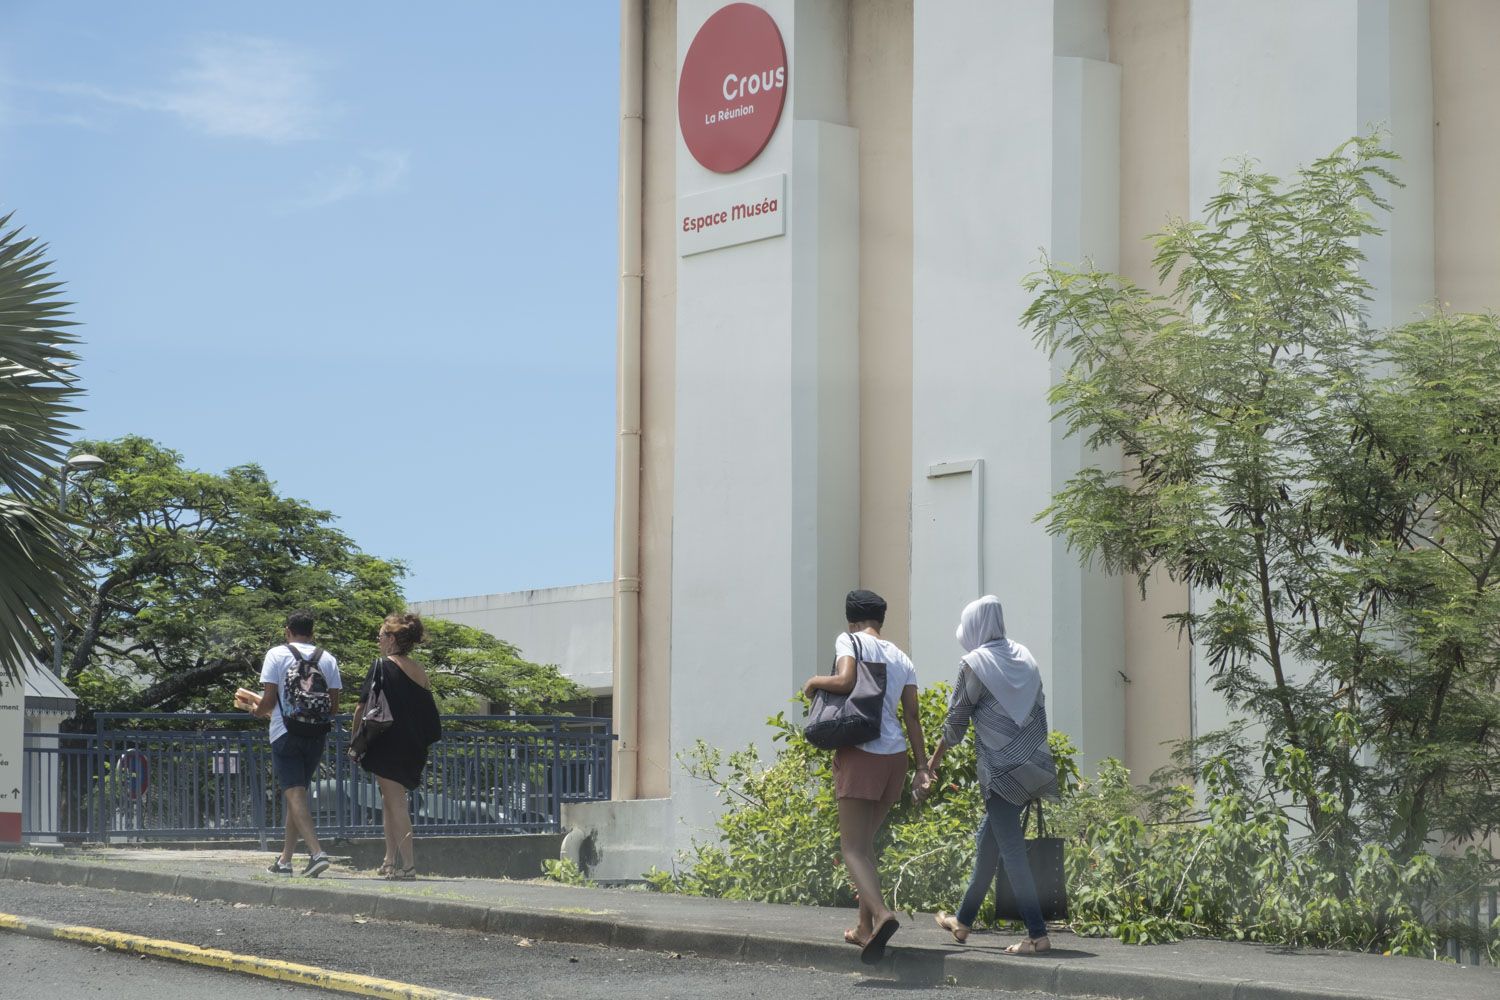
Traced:
POLYGON ((414 600, 608 579, 618 30, 0 1, 0 211, 76 303, 82 436, 258 462, 414 600))

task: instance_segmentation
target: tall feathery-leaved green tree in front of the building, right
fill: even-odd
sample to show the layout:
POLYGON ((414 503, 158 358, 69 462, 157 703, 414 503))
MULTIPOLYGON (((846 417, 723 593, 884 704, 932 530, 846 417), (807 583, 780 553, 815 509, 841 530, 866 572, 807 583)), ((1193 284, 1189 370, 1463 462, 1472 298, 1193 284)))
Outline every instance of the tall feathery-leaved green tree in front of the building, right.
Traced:
POLYGON ((1125 459, 1066 483, 1048 531, 1197 589, 1173 619, 1263 727, 1204 748, 1260 759, 1344 892, 1365 844, 1500 828, 1496 324, 1366 327, 1390 159, 1356 138, 1287 184, 1240 166, 1155 237, 1166 294, 1047 262, 1024 316, 1065 364, 1056 418, 1125 459))

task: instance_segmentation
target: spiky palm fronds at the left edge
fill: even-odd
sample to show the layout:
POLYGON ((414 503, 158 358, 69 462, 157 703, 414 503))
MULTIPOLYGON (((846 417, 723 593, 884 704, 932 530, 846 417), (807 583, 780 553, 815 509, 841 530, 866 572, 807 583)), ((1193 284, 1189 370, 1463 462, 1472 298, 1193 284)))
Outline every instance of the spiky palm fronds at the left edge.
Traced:
POLYGON ((46 501, 80 391, 60 288, 45 244, 0 217, 0 678, 20 676, 80 585, 46 501))

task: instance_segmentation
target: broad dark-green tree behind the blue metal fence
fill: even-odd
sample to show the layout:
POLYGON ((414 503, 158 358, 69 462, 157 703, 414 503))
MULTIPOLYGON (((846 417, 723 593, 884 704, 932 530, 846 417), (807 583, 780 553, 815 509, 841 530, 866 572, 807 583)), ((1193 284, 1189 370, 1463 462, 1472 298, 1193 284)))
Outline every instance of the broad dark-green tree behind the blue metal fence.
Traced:
MULTIPOLYGON (((198 472, 136 436, 87 447, 105 466, 69 493, 88 588, 63 634, 86 712, 232 711, 234 688, 255 685, 286 613, 303 607, 345 687, 360 684, 381 619, 405 607, 399 562, 362 552, 258 466, 198 472)), ((556 667, 465 625, 429 621, 417 655, 450 712, 538 712, 580 694, 556 667)))

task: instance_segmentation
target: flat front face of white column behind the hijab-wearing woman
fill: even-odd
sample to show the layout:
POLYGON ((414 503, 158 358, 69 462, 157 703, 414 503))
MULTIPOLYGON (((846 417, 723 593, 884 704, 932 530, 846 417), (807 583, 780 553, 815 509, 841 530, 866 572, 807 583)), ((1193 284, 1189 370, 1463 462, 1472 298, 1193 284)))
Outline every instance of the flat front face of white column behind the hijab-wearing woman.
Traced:
MULTIPOLYGON (((912 655, 951 681, 974 550, 1052 681, 1050 370, 1017 318, 1052 238, 1053 4, 918 0, 912 45, 912 655), (984 52, 976 58, 975 52, 984 52), (984 508, 940 463, 986 460, 984 508), (975 537, 982 532, 982 538, 975 537)), ((970 474, 972 475, 972 474, 970 474)))

